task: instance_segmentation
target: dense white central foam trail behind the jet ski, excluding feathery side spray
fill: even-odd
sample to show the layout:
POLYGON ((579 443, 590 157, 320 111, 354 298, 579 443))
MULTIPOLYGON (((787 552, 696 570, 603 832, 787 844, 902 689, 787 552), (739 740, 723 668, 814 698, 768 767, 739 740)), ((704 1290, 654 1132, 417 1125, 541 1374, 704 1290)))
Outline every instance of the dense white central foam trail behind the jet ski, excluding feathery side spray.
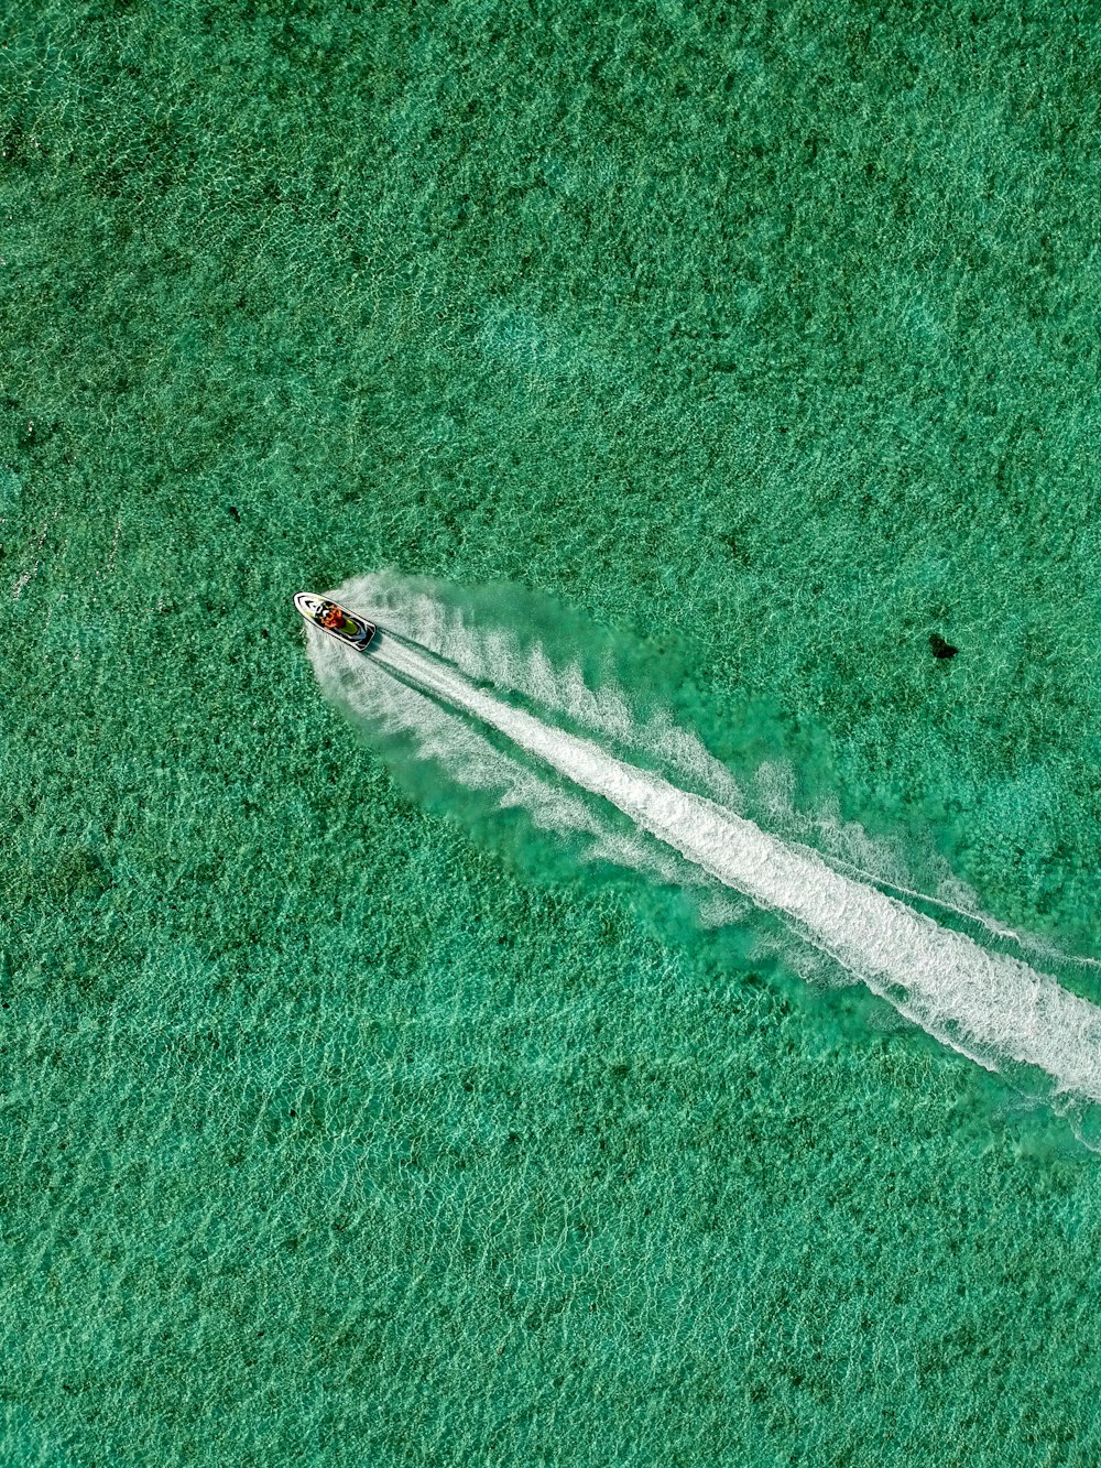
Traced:
POLYGON ((1039 1067, 1057 1092, 1101 1102, 1101 1009, 1053 976, 986 951, 719 800, 618 757, 597 738, 515 706, 489 680, 467 677, 407 637, 382 628, 367 656, 323 642, 316 639, 311 656, 336 702, 354 702, 363 680, 389 677, 493 730, 521 765, 548 766, 715 882, 782 915, 806 942, 944 1044, 991 1070, 1009 1061, 1039 1067))

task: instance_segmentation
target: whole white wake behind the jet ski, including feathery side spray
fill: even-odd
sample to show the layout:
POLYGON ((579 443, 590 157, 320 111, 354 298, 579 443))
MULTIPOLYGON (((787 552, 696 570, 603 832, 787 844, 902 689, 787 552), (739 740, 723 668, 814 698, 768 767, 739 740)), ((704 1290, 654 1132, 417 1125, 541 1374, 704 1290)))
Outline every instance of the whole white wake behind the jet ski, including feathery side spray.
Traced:
MULTIPOLYGON (((376 615, 370 603, 357 603, 349 589, 335 595, 376 615)), ((436 631, 433 640, 446 653, 443 622, 436 631)), ((373 681, 377 693, 380 681, 393 680, 389 697, 376 700, 376 718, 407 728, 417 721, 421 755, 446 760, 451 768, 467 762, 462 778, 468 784, 499 785, 506 791, 502 803, 521 803, 543 824, 589 829, 597 847, 606 847, 602 854, 655 869, 653 843, 640 840, 631 849, 630 837, 609 837, 589 802, 571 802, 558 781, 546 781, 537 768, 509 759, 479 727, 496 731, 528 760, 609 802, 637 831, 656 838, 674 862, 661 875, 683 872, 687 863, 705 884, 721 884, 757 907, 781 913, 806 942, 931 1035, 988 1069, 1010 1060, 1036 1066, 1053 1078, 1057 1092, 1101 1101, 1098 1007, 1053 976, 1009 954, 986 951, 964 934, 940 926, 898 898, 835 871, 818 853, 785 843, 738 815, 730 807, 737 800, 733 781, 721 766, 708 768, 711 756, 691 735, 668 728, 649 731, 665 740, 666 755, 680 759, 697 785, 708 780, 715 794, 680 788, 602 747, 600 730, 619 747, 631 738, 637 743, 639 731, 630 728, 625 705, 609 713, 577 674, 536 669, 534 683, 545 683, 536 691, 552 709, 562 709, 565 700, 574 719, 584 715, 597 737, 537 718, 465 677, 445 656, 386 636, 385 630, 366 656, 321 633, 311 633, 310 643, 319 681, 338 703, 366 706, 373 681)), ((486 664, 495 669, 495 681, 505 687, 521 684, 531 693, 530 659, 523 677, 512 668, 508 680, 504 642, 498 653, 486 664)))

